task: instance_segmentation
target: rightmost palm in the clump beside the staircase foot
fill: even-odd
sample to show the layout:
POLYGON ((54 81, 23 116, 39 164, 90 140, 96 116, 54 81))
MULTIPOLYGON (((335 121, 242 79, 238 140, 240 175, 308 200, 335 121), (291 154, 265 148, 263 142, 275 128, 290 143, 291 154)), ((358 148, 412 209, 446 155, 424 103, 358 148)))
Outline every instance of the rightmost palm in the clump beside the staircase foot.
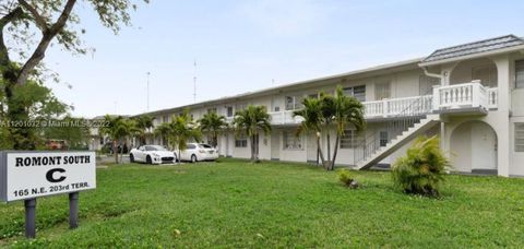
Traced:
POLYGON ((364 119, 364 105, 353 96, 346 96, 342 86, 337 86, 333 96, 333 122, 335 123, 335 151, 331 159, 330 169, 335 168, 336 154, 341 142, 341 137, 345 134, 347 127, 353 127, 360 132, 366 127, 364 119))

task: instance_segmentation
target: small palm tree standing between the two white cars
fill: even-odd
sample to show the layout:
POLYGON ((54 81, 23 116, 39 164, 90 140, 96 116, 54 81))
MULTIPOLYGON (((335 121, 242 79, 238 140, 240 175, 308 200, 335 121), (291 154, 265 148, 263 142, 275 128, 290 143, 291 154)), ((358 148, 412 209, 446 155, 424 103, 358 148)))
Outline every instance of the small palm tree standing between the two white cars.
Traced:
POLYGON ((190 140, 200 141, 202 132, 198 129, 188 110, 184 110, 180 116, 172 117, 170 127, 170 141, 172 147, 178 150, 178 162, 180 162, 180 152, 187 149, 187 143, 190 140))

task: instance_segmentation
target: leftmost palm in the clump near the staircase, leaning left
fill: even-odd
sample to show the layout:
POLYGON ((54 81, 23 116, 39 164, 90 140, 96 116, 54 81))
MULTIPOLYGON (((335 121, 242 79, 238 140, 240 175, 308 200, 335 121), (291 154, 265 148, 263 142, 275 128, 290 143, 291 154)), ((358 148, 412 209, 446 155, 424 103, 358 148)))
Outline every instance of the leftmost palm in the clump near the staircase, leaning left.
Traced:
POLYGON ((318 98, 307 97, 302 99, 302 109, 293 111, 293 117, 302 117, 303 120, 297 129, 297 135, 302 132, 313 133, 317 140, 317 150, 322 165, 325 166, 324 154, 320 146, 322 134, 322 102, 318 98))

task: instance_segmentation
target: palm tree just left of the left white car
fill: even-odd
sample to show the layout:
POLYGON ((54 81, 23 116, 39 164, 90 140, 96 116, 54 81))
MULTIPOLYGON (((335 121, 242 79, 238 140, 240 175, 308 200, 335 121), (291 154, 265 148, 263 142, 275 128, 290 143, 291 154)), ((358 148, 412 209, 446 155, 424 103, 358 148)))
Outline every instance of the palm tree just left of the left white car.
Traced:
MULTIPOLYGON (((129 119, 124 119, 122 116, 111 117, 106 115, 104 117, 104 121, 108 123, 108 126, 100 127, 100 133, 106 134, 112 141, 112 153, 115 154, 115 163, 118 162, 118 144, 124 142, 127 138, 133 134, 134 122, 129 119)), ((121 162, 121 158, 120 158, 121 162)))

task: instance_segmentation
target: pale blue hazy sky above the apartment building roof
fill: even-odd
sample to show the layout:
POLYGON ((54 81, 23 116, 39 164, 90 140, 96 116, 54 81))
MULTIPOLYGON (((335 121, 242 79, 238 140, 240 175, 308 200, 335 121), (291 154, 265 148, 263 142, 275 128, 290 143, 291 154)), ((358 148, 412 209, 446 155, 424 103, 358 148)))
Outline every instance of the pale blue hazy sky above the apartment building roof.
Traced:
POLYGON ((152 0, 118 35, 90 5, 84 56, 53 46, 46 83, 76 117, 136 115, 524 36, 524 1, 152 0), (196 61, 196 67, 194 67, 196 61))

